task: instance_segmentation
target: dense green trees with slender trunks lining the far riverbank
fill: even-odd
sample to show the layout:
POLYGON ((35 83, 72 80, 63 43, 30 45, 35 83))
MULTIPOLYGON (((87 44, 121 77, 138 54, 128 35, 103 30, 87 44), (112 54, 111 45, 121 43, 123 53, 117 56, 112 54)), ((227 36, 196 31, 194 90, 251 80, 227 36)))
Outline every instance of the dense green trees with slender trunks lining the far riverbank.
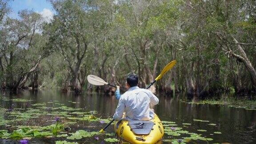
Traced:
POLYGON ((95 90, 88 74, 122 86, 129 73, 144 87, 177 60, 152 88, 255 95, 254 0, 50 0, 50 23, 28 10, 12 19, 8 2, 0 0, 3 89, 81 92, 95 90))

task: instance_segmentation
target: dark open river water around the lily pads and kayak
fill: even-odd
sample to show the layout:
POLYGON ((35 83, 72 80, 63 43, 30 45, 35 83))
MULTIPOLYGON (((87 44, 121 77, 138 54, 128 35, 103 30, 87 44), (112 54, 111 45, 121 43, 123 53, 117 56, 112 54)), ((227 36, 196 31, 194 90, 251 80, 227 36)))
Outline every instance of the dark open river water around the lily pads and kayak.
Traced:
MULTIPOLYGON (((15 104, 16 108, 23 108, 25 103, 35 104, 42 102, 49 102, 58 100, 59 103, 65 104, 67 107, 72 108, 83 108, 84 111, 98 111, 97 116, 103 118, 110 117, 114 114, 118 101, 114 96, 104 96, 97 93, 86 93, 82 96, 74 96, 72 93, 61 93, 58 91, 38 91, 30 92, 25 91, 18 95, 9 95, 2 93, 2 96, 14 98, 24 98, 33 100, 31 102, 12 102, 1 100, 1 107, 8 108, 12 104, 15 104), (68 102, 69 101, 69 102, 68 102), (77 103, 71 103, 77 102, 77 103)), ((208 143, 256 143, 256 111, 246 110, 244 108, 233 108, 225 105, 213 105, 213 104, 187 104, 182 102, 181 95, 176 96, 158 96, 160 104, 155 106, 155 112, 164 121, 176 122, 177 126, 188 132, 195 132, 202 134, 207 138, 212 138, 212 141, 208 143), (209 122, 198 122, 198 120, 209 120, 209 122), (189 123, 191 125, 183 125, 182 123, 189 123), (210 123, 216 124, 216 126, 208 125, 210 123), (207 132, 199 132, 198 129, 207 130, 207 132), (222 134, 213 134, 213 132, 222 132, 222 134)), ((47 107, 53 107, 52 104, 47 103, 47 107)), ((36 123, 36 122, 35 122, 36 123)), ((96 123, 90 123, 94 125, 91 130, 98 131, 104 124, 99 125, 96 123)), ((74 126, 75 130, 86 129, 88 127, 74 126)), ((3 129, 3 127, 1 128, 3 129)), ((114 132, 113 125, 111 125, 107 132, 114 132)), ((168 136, 164 135, 164 140, 167 139, 182 139, 186 137, 181 136, 168 136)), ((67 140, 67 139, 62 139, 67 140)), ((84 140, 84 139, 83 139, 84 140)), ((104 140, 104 139, 103 139, 104 140)), ((55 143, 54 139, 46 138, 35 138, 30 140, 31 143, 55 143)), ((67 140, 70 141, 70 140, 67 140)), ((74 140, 71 140, 74 141, 74 140)), ((95 141, 93 138, 88 138, 84 142, 81 140, 79 143, 100 143, 95 141)), ((0 139, 0 143, 17 143, 16 140, 5 140, 0 139)), ((160 142, 168 143, 168 142, 160 142)), ((205 144, 207 141, 203 140, 192 140, 189 143, 202 143, 205 144)))

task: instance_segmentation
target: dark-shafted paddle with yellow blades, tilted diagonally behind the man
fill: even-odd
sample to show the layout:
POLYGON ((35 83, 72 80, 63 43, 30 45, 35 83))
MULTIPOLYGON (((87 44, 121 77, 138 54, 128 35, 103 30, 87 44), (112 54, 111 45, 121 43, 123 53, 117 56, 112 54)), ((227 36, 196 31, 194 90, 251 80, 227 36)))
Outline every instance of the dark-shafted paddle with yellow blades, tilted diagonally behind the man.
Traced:
MULTIPOLYGON (((165 74, 166 72, 168 72, 168 70, 170 70, 175 64, 176 64, 176 60, 172 60, 169 64, 167 64, 167 65, 164 67, 164 69, 161 71, 160 75, 157 76, 156 79, 153 80, 153 81, 148 85, 148 87, 147 87, 146 89, 150 88, 157 80, 160 80, 160 79, 162 78, 162 76, 164 76, 164 74, 165 74)), ((111 120, 104 128, 102 128, 102 129, 100 130, 100 132, 104 132, 105 129, 108 128, 108 126, 109 126, 113 121, 114 121, 114 119, 111 120)))

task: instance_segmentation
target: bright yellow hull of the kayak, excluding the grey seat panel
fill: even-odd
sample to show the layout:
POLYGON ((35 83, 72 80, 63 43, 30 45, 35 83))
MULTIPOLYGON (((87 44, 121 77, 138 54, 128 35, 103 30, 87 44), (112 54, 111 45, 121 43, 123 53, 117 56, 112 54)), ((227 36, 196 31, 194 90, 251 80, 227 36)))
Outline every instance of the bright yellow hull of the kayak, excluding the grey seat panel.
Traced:
POLYGON ((122 120, 118 125, 118 128, 116 128, 115 123, 114 130, 117 136, 127 140, 132 144, 154 144, 164 136, 164 128, 161 120, 156 114, 155 117, 149 121, 155 123, 149 135, 136 135, 134 132, 132 132, 132 130, 130 130, 130 127, 128 126, 128 120, 122 120), (143 140, 138 140, 138 138, 143 140))

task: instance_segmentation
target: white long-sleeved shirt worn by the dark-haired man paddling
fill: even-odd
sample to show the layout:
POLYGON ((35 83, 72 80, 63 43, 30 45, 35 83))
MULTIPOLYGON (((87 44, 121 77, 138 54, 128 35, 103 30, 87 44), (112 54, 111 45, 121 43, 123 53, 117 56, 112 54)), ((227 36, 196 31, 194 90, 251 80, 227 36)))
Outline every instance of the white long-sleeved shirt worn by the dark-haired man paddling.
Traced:
POLYGON ((158 104, 158 98, 149 90, 131 87, 119 99, 113 118, 120 120, 125 112, 127 120, 150 120, 149 104, 158 104))

